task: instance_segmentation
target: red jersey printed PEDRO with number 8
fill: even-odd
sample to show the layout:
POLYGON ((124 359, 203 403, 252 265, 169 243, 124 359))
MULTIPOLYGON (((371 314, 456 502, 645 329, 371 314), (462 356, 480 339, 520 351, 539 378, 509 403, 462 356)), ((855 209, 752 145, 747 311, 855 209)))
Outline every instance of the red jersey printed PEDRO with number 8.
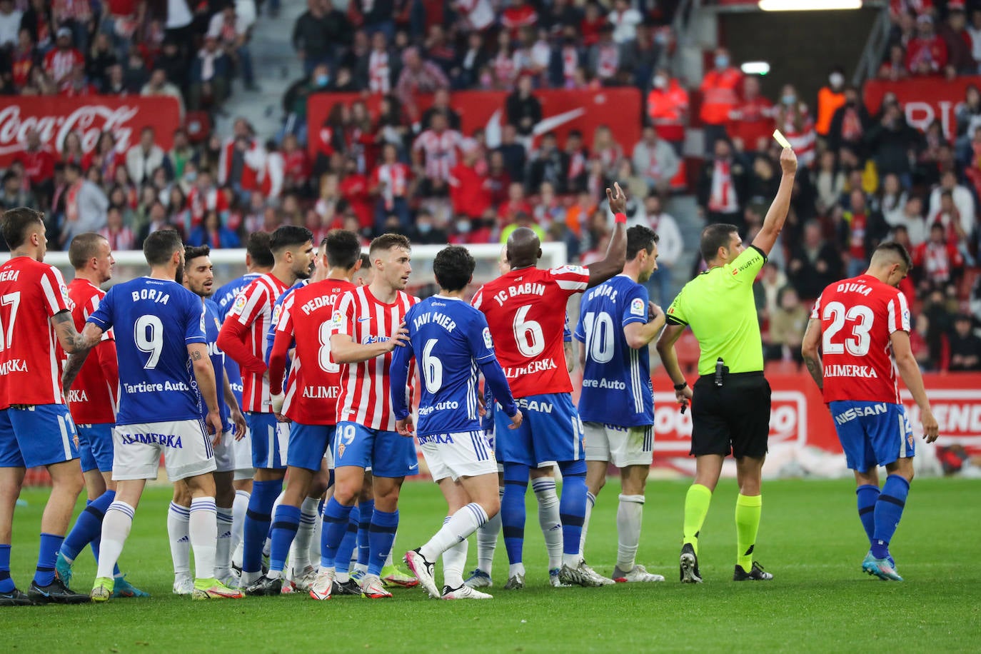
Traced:
POLYGON ((283 303, 270 375, 275 374, 273 358, 295 343, 283 414, 300 425, 336 424, 340 366, 331 357, 334 310, 344 293, 354 288, 346 279, 324 279, 297 288, 283 303))

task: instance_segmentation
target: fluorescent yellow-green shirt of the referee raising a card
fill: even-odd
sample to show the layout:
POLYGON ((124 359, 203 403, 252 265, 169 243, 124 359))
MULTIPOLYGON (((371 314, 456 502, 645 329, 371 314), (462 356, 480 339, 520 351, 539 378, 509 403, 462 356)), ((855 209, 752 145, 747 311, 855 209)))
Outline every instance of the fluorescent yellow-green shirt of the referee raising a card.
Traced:
POLYGON ((692 327, 698 339, 698 375, 714 375, 719 357, 730 373, 763 370, 752 282, 765 263, 766 255, 750 245, 732 262, 685 284, 668 307, 667 322, 692 327))

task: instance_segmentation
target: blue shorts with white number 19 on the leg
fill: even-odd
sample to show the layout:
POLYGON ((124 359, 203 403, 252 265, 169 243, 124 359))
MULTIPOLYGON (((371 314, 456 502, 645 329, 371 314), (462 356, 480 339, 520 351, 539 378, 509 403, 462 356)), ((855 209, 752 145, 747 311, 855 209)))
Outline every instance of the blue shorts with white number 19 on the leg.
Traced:
POLYGON ((372 429, 357 423, 337 423, 334 465, 371 468, 375 477, 409 477, 419 474, 416 440, 397 431, 372 429))

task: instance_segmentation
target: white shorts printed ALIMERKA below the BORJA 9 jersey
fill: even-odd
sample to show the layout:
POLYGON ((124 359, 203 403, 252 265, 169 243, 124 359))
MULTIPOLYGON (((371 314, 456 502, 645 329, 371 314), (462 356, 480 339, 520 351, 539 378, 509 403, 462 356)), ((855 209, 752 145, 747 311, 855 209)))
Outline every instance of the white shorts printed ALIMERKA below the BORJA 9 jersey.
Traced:
POLYGON ((113 429, 113 478, 155 479, 160 455, 171 481, 215 470, 211 435, 200 420, 117 425, 113 429))

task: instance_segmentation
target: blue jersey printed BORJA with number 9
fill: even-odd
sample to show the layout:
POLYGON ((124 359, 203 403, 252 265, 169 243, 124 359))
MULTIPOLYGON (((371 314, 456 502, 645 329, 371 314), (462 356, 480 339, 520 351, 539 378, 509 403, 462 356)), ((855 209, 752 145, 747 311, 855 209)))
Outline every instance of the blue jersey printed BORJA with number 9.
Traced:
POLYGON ((109 289, 88 322, 115 327, 117 425, 200 420, 189 343, 206 343, 201 298, 176 281, 137 277, 109 289))

